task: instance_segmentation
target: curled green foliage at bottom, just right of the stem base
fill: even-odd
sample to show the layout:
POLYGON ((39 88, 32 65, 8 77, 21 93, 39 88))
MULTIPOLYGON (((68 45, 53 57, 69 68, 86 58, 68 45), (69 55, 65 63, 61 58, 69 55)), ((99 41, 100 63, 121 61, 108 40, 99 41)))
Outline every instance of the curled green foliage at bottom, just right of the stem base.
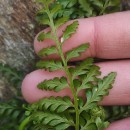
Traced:
POLYGON ((108 121, 105 121, 105 111, 101 106, 93 107, 89 111, 83 111, 80 119, 82 122, 81 130, 103 130, 109 125, 108 121))

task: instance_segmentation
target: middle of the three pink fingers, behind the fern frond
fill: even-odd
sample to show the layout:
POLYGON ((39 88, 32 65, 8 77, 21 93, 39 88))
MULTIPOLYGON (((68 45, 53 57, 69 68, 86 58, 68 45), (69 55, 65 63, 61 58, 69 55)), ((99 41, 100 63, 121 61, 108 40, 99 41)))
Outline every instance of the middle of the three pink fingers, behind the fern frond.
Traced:
MULTIPOLYGON (((102 105, 127 105, 130 104, 130 60, 113 61, 98 63, 101 67, 102 76, 107 75, 111 71, 117 72, 114 87, 110 90, 110 94, 106 96, 102 105)), ((61 77, 65 75, 63 71, 47 72, 44 70, 36 70, 28 74, 22 83, 22 93, 28 102, 35 102, 43 97, 50 96, 70 96, 69 89, 62 90, 59 93, 42 91, 37 88, 38 83, 45 79, 61 77)), ((83 96, 83 93, 82 93, 83 96)))

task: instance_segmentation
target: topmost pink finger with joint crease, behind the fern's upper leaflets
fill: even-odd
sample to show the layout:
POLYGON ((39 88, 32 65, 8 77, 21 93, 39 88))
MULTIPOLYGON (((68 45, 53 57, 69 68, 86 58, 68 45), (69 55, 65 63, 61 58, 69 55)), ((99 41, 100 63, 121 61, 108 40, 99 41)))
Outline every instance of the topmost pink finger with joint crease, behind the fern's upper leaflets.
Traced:
MULTIPOLYGON (((79 19, 78 21, 79 27, 76 34, 63 45, 64 52, 89 42, 90 48, 82 54, 80 59, 86 57, 130 58, 130 11, 79 19)), ((59 35, 63 28, 65 26, 59 30, 59 35)), ((39 43, 37 37, 35 38, 36 53, 51 45, 54 45, 51 40, 39 43)), ((56 56, 52 56, 52 58, 56 58, 56 56)))

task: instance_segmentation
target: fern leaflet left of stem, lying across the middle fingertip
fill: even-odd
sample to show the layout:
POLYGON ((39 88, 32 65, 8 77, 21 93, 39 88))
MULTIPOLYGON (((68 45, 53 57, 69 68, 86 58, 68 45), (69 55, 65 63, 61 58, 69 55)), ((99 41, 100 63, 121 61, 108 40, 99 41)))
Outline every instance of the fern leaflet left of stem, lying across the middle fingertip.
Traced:
POLYGON ((65 77, 55 77, 54 79, 44 80, 38 84, 38 88, 42 90, 54 90, 56 92, 61 91, 64 88, 68 87, 68 82, 65 77))

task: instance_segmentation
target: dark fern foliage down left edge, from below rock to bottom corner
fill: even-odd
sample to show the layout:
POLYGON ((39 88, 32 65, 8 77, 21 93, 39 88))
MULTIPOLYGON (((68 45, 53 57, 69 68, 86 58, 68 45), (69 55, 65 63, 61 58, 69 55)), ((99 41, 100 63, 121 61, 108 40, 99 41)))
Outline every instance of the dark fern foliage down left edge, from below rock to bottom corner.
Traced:
MULTIPOLYGON (((27 103, 22 99, 20 89, 25 74, 23 71, 2 64, 0 64, 0 73, 10 83, 10 87, 17 92, 9 101, 0 101, 0 130, 18 130, 19 125, 26 118, 26 109, 23 108, 23 104, 27 105, 27 103)), ((25 130, 28 127, 32 130, 30 125, 25 130)))

